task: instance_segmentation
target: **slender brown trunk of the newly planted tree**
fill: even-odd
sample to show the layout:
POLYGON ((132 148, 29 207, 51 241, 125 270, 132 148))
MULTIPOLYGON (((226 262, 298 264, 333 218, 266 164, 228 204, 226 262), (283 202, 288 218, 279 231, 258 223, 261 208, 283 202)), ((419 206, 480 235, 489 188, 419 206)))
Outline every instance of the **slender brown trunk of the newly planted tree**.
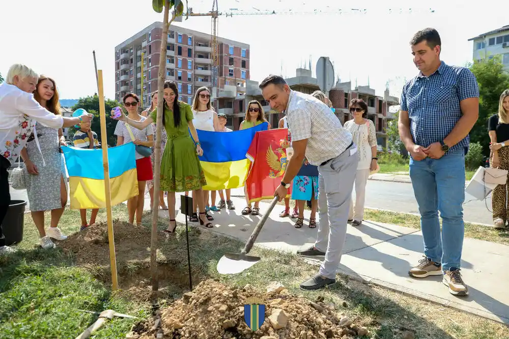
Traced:
MULTIPOLYGON (((157 269, 157 219, 159 217, 159 185, 161 178, 161 130, 162 115, 164 114, 164 81, 166 80, 166 37, 168 36, 168 27, 172 20, 168 22, 169 0, 164 1, 164 18, 162 22, 162 41, 161 52, 159 56, 159 77, 157 81, 157 119, 156 119, 156 142, 154 147, 154 199, 152 205, 152 233, 150 239, 150 270, 152 273, 152 291, 159 289, 159 273, 157 269)), ((142 61, 143 62, 143 61, 142 61)), ((169 207, 169 206, 168 206, 169 207)))

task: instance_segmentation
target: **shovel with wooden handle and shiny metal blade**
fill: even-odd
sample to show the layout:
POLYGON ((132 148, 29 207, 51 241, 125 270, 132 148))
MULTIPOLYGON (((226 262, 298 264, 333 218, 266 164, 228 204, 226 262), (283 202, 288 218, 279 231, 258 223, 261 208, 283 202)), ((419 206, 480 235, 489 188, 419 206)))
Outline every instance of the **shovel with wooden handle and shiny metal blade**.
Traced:
POLYGON ((251 233, 251 236, 249 236, 249 239, 247 239, 247 243, 244 246, 244 249, 242 249, 242 252, 224 253, 224 256, 222 256, 217 263, 217 272, 219 274, 240 273, 261 260, 260 257, 248 256, 247 253, 249 253, 251 247, 253 247, 254 241, 256 241, 260 231, 262 231, 262 227, 265 224, 265 221, 267 221, 270 212, 272 212, 272 209, 274 206, 276 206, 278 200, 279 197, 275 196, 270 203, 268 210, 263 214, 263 217, 260 219, 260 221, 258 221, 258 224, 254 228, 253 233, 251 233))

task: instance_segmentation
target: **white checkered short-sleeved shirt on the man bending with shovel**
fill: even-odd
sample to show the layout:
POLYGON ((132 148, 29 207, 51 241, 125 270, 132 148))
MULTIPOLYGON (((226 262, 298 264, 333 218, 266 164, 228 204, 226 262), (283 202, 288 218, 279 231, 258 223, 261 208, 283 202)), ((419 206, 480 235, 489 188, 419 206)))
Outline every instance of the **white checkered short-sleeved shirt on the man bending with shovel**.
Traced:
POLYGON ((291 91, 285 113, 292 143, 307 139, 306 158, 312 165, 337 157, 352 144, 352 134, 313 96, 291 91))

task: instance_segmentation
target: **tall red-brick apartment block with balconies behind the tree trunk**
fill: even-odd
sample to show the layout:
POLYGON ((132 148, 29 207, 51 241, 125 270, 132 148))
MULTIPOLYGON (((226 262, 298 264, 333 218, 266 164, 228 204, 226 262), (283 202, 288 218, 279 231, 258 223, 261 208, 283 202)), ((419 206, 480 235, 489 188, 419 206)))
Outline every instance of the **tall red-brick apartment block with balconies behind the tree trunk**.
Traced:
POLYGON ((209 34, 171 25, 167 37, 162 23, 154 22, 115 47, 115 97, 142 92, 142 53, 144 53, 143 103, 150 104, 150 93, 157 90, 161 43, 166 45, 166 79, 177 83, 179 99, 191 103, 195 91, 207 86, 217 109, 245 93, 249 79, 249 45, 218 37, 218 87, 212 79, 212 48, 209 34))

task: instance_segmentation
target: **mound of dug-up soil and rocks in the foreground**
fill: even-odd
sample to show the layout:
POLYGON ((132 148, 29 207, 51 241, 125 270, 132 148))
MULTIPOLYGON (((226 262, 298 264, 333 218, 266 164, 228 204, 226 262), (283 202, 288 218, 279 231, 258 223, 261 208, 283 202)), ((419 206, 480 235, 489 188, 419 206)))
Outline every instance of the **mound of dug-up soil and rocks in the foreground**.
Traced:
MULTIPOLYGON (((262 304, 262 303, 261 303, 262 304)), ((309 300, 290 295, 279 283, 267 292, 258 293, 252 286, 231 289, 209 279, 171 306, 158 310, 156 316, 133 326, 128 338, 353 338, 368 335, 333 306, 323 300, 309 300), (251 330, 244 320, 244 305, 256 298, 265 305, 265 321, 260 329, 251 330)))

